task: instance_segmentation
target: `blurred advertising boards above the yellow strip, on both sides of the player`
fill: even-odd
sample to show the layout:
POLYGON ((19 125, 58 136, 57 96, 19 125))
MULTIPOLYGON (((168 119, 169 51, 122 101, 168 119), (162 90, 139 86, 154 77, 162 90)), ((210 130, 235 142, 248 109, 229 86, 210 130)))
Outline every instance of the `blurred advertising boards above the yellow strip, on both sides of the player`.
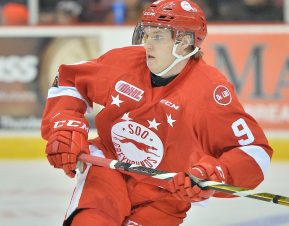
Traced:
MULTIPOLYGON (((0 28, 0 131, 39 130, 47 90, 62 63, 130 45, 133 27, 0 28)), ((289 131, 289 26, 212 25, 206 61, 233 83, 265 130, 289 131)))

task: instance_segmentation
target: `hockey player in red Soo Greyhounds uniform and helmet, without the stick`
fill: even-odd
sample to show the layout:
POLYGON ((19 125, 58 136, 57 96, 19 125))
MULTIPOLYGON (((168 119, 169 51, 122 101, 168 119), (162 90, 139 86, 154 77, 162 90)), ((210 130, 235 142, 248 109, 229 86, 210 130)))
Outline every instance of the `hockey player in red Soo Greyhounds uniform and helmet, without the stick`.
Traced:
POLYGON ((225 197, 185 173, 247 188, 264 179, 272 149, 232 85, 202 59, 206 33, 194 2, 156 1, 135 28, 133 44, 143 45, 60 66, 42 121, 51 165, 74 177, 77 156, 89 153, 178 172, 166 184, 86 165, 64 225, 179 225, 192 202, 225 197), (105 108, 88 141, 93 103, 105 108))

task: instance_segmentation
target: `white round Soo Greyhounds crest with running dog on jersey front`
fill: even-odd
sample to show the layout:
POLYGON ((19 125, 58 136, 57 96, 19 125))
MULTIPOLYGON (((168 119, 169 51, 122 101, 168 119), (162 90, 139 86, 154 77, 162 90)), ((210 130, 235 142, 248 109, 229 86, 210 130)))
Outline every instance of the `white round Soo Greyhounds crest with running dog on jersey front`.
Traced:
POLYGON ((124 121, 111 128, 111 138, 118 160, 156 168, 164 154, 161 139, 150 129, 133 121, 124 121))

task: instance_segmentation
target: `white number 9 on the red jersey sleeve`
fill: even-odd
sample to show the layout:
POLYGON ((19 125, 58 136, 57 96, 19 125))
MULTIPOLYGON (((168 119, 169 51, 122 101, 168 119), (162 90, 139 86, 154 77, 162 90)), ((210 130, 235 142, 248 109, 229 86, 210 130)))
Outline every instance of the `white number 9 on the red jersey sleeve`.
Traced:
POLYGON ((236 137, 242 137, 238 140, 239 144, 242 146, 251 144, 255 140, 247 123, 242 118, 239 118, 237 121, 233 122, 232 129, 236 137))

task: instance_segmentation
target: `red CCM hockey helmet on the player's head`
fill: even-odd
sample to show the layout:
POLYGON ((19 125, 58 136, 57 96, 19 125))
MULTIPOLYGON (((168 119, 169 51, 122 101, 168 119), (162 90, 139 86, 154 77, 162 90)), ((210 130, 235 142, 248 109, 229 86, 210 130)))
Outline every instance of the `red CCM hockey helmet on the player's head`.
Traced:
POLYGON ((144 11, 133 35, 133 44, 141 44, 140 26, 170 28, 174 38, 178 32, 193 34, 194 47, 200 47, 207 34, 207 21, 203 10, 191 0, 159 0, 144 11))

